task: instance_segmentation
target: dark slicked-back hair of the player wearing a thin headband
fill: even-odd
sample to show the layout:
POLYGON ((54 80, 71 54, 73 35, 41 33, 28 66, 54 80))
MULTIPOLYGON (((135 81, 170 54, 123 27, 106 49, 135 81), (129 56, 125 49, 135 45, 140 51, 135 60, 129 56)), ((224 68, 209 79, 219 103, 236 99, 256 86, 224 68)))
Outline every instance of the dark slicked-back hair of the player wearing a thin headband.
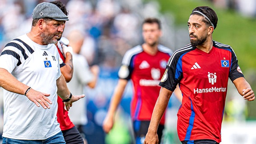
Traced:
MULTIPOLYGON (((199 11, 203 14, 206 15, 206 17, 209 18, 209 20, 207 18, 205 18, 204 16, 204 19, 203 19, 203 22, 206 23, 208 26, 211 26, 211 23, 213 24, 214 26, 214 29, 217 27, 217 23, 218 23, 218 17, 217 17, 217 14, 215 13, 215 11, 213 9, 211 9, 209 6, 198 6, 196 7, 195 9, 192 10, 192 13, 190 15, 201 15, 200 13, 193 13, 194 11, 199 11)), ((201 15, 202 16, 202 15, 201 15)))

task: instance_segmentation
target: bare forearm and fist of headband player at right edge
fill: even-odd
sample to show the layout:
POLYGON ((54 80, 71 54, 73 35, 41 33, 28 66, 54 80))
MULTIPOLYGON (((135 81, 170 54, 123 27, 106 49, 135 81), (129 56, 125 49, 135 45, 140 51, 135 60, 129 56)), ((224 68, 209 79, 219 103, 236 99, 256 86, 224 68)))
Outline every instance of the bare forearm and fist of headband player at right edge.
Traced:
POLYGON ((233 81, 236 86, 238 93, 248 101, 253 101, 255 99, 254 91, 251 89, 251 85, 245 80, 244 77, 239 77, 233 81))

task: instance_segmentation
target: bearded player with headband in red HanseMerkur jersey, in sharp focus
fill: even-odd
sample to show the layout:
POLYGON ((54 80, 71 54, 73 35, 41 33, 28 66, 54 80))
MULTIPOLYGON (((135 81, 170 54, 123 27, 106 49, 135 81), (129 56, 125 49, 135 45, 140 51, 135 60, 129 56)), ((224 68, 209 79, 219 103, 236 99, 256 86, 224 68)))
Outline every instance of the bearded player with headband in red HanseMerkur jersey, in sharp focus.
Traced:
POLYGON ((157 144, 158 124, 177 84, 183 94, 177 114, 177 131, 182 144, 221 142, 229 79, 243 99, 255 99, 233 49, 212 38, 217 22, 217 15, 210 7, 199 6, 192 10, 187 22, 190 44, 174 52, 167 63, 144 144, 157 144))

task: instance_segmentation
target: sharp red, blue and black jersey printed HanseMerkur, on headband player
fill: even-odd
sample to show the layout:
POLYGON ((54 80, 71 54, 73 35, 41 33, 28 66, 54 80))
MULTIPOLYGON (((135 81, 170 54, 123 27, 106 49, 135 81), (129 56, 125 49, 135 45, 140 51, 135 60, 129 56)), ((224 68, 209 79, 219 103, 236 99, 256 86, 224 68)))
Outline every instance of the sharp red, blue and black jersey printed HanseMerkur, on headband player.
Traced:
POLYGON ((178 49, 167 63, 160 86, 183 94, 178 110, 177 131, 181 141, 221 141, 228 80, 243 77, 238 59, 229 45, 213 41, 206 53, 190 44, 178 49))

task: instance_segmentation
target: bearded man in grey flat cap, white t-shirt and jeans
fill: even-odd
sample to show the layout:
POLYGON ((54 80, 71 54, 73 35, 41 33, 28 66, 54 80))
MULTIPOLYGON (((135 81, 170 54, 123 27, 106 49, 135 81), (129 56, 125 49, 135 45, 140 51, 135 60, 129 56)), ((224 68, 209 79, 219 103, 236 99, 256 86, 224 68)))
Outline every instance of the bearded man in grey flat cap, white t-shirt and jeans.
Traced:
POLYGON ((46 2, 36 6, 32 18, 31 31, 11 40, 0 54, 3 144, 65 144, 56 117, 57 96, 68 111, 84 97, 68 90, 54 45, 63 31, 61 24, 69 19, 46 2))

